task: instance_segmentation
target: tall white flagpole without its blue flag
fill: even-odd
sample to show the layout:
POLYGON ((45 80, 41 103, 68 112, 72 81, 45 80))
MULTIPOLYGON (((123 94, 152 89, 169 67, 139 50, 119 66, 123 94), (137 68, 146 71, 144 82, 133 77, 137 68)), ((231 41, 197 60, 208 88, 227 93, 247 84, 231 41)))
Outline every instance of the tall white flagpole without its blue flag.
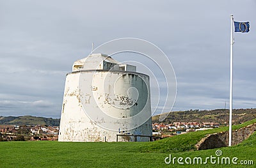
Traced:
POLYGON ((233 44, 234 44, 234 18, 233 15, 230 15, 231 18, 231 29, 230 29, 230 95, 229 95, 229 137, 228 137, 228 146, 231 146, 232 142, 232 89, 233 89, 233 44))

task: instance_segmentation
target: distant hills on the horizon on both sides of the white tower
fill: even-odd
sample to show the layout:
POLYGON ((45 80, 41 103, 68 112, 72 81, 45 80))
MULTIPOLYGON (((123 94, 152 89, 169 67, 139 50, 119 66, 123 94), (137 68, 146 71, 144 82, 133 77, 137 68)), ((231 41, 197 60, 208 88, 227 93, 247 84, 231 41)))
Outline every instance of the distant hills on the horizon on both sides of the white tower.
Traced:
MULTIPOLYGON (((232 111, 232 123, 239 124, 245 121, 250 121, 256 118, 256 109, 234 109, 232 111)), ((212 122, 225 125, 228 123, 229 110, 215 109, 211 111, 174 111, 168 114, 163 123, 173 122, 212 122)), ((152 123, 159 123, 159 115, 152 116, 152 123)), ((43 118, 35 116, 20 116, 20 117, 2 117, 0 116, 0 125, 60 125, 60 119, 43 118)))

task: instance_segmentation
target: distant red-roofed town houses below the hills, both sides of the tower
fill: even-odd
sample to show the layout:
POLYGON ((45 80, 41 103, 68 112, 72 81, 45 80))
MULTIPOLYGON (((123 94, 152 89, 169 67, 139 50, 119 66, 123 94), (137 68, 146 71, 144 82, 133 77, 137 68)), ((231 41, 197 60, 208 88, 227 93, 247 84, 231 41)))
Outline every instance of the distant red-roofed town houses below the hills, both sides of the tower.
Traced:
MULTIPOLYGON (((153 136, 164 138, 219 126, 219 123, 153 123, 152 131, 153 136)), ((0 125, 0 141, 57 141, 58 134, 59 126, 0 125)))

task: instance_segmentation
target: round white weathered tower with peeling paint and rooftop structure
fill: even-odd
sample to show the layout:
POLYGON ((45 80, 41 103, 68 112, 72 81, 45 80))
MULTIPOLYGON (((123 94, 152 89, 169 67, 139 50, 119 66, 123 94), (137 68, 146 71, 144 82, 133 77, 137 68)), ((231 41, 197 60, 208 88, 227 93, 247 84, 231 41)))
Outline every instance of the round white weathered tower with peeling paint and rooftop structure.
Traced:
POLYGON ((67 74, 59 141, 148 141, 149 77, 104 54, 76 61, 67 74))

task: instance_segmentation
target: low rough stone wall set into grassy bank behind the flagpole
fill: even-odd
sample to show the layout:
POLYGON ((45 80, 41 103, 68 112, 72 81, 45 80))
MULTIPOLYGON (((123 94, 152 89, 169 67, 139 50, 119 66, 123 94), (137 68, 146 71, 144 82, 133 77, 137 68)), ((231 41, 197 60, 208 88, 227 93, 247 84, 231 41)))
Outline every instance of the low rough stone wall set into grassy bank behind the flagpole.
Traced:
MULTIPOLYGON (((232 146, 248 139, 256 131, 256 123, 232 131, 232 146)), ((218 132, 206 135, 196 144, 196 149, 214 149, 228 146, 228 132, 218 132)))

